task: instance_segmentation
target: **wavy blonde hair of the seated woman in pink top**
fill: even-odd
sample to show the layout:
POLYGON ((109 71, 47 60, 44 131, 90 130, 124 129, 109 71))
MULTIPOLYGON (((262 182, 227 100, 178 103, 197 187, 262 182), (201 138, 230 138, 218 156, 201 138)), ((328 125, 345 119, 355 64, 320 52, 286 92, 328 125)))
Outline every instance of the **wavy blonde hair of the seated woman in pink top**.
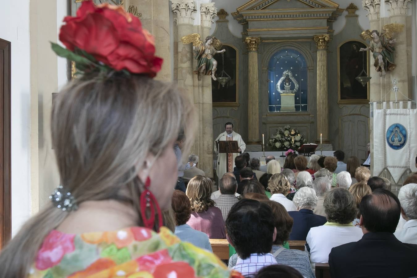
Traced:
POLYGON ((212 188, 211 179, 202 175, 196 175, 188 182, 186 195, 190 199, 191 210, 199 213, 214 206, 214 201, 210 199, 212 188))

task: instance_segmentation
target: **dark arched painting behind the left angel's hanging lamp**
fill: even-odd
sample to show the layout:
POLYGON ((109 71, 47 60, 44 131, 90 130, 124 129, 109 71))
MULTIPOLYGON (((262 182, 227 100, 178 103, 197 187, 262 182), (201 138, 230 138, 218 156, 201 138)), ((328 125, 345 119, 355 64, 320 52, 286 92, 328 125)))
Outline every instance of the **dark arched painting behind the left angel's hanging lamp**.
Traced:
POLYGON ((231 45, 223 45, 224 53, 217 53, 217 80, 211 80, 211 93, 213 106, 233 106, 238 104, 238 51, 231 45), (223 54, 223 55, 222 55, 223 54), (221 84, 219 77, 230 77, 226 83, 221 84))

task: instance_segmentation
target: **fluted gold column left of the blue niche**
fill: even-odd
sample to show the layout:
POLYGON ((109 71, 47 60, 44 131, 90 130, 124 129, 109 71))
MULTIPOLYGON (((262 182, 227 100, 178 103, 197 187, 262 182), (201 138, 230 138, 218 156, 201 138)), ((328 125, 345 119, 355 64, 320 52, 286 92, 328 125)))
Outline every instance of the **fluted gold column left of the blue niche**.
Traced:
POLYGON ((259 82, 258 45, 259 37, 246 37, 248 48, 248 144, 259 144, 259 82))

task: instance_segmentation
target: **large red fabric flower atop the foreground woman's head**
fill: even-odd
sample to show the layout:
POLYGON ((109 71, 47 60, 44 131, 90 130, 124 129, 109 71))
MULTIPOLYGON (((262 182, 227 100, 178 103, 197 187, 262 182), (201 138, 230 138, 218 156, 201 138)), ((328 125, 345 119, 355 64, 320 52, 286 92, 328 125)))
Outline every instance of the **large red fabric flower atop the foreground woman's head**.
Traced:
POLYGON ((161 70, 153 36, 120 6, 83 1, 77 15, 65 17, 64 22, 59 39, 68 50, 84 50, 114 70, 151 77, 161 70))

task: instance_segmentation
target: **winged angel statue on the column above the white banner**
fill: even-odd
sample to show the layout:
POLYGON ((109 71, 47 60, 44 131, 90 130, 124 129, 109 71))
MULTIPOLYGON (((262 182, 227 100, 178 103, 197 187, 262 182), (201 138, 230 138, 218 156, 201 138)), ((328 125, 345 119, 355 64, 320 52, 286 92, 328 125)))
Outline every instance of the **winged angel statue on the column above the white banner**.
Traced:
POLYGON ((374 67, 379 75, 385 75, 385 72, 392 71, 395 68, 393 39, 395 33, 402 31, 404 25, 398 23, 386 24, 382 27, 383 33, 379 34, 377 30, 365 30, 361 33, 364 40, 369 40, 369 47, 361 48, 359 51, 371 50, 374 55, 374 67))

